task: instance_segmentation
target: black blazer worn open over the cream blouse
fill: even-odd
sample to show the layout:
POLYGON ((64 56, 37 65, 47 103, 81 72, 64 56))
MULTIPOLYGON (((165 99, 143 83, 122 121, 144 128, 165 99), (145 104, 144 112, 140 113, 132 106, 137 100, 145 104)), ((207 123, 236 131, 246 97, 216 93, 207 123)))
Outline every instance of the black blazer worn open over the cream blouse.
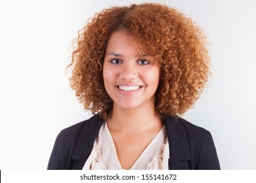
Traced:
MULTIPOLYGON (((83 169, 104 120, 89 120, 63 129, 56 138, 47 169, 83 169)), ((221 169, 209 131, 182 118, 163 118, 169 139, 169 169, 221 169)))

